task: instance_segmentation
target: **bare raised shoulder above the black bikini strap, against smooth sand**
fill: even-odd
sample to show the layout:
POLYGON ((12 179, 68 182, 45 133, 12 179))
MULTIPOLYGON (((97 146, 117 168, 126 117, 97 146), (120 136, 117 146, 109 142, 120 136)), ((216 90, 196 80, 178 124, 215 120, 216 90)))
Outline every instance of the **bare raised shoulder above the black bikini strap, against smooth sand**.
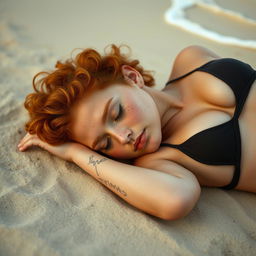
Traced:
POLYGON ((169 79, 175 79, 210 60, 218 58, 220 56, 205 47, 198 45, 188 46, 176 56, 169 79))

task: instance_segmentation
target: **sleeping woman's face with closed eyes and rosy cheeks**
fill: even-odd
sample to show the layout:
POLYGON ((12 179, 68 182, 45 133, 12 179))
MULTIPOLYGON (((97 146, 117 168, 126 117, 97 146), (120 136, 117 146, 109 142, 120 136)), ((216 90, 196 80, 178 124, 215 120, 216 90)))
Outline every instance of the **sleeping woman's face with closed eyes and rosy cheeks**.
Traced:
POLYGON ((136 158, 156 151, 161 143, 156 104, 136 83, 91 89, 72 117, 75 141, 114 158, 136 158))

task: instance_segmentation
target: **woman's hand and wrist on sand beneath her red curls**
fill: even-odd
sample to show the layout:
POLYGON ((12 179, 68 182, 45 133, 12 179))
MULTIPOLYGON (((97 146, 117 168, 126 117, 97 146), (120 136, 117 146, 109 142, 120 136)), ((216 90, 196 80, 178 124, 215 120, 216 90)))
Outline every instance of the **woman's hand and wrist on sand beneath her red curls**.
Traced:
POLYGON ((52 153, 53 155, 67 161, 73 161, 72 157, 76 150, 81 147, 86 148, 85 146, 74 142, 68 142, 61 145, 53 146, 40 140, 37 135, 27 133, 18 144, 18 149, 19 151, 25 151, 32 146, 38 146, 40 148, 43 148, 48 152, 52 153))

